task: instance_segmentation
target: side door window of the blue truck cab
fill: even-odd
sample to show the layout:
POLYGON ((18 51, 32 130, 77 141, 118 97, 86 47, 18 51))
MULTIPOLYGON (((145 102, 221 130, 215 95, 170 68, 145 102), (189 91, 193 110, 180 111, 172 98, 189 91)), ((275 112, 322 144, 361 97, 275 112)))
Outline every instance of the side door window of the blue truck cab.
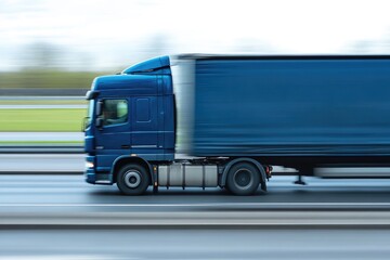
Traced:
POLYGON ((103 126, 114 126, 127 122, 128 114, 127 100, 103 101, 103 126))

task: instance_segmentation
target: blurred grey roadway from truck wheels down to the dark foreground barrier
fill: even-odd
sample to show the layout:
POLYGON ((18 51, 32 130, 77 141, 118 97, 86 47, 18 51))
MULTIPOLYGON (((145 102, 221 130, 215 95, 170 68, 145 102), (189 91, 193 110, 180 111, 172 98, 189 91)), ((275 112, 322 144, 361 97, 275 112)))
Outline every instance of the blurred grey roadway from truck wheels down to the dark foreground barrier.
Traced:
POLYGON ((24 224, 25 221, 29 224, 82 225, 93 224, 93 221, 96 224, 112 224, 104 222, 105 218, 118 219, 115 224, 126 225, 212 224, 227 216, 231 222, 221 223, 274 224, 272 220, 277 218, 286 224, 327 224, 330 222, 326 218, 332 212, 340 213, 338 222, 333 224, 348 224, 348 218, 354 217, 360 224, 373 223, 368 218, 377 218, 377 224, 390 224, 389 180, 306 178, 306 186, 292 184, 294 180, 294 177, 274 177, 269 182, 269 192, 259 190, 256 195, 246 197, 233 196, 221 188, 159 188, 157 195, 150 188, 144 196, 123 196, 116 185, 91 185, 84 183, 82 176, 1 174, 0 222, 3 222, 0 224, 24 224), (89 221, 90 217, 96 218, 95 213, 100 219, 89 221), (62 219, 54 222, 39 219, 48 216, 62 219), (162 222, 161 216, 165 219, 162 222), (127 217, 138 222, 128 222, 127 217), (144 217, 150 222, 143 221, 144 217), (72 222, 75 218, 82 220, 72 222), (172 218, 184 220, 174 222, 172 218), (204 218, 205 222, 196 218, 204 218), (302 219, 314 222, 302 222, 302 219))

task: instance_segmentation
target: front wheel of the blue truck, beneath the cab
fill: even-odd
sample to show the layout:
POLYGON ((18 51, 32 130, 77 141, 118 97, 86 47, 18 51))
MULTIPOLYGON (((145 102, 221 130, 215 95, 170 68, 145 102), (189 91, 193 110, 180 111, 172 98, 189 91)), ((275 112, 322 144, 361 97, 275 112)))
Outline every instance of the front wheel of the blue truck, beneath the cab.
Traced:
POLYGON ((117 177, 117 186, 122 194, 141 195, 151 184, 151 176, 140 165, 130 164, 120 168, 117 177))

